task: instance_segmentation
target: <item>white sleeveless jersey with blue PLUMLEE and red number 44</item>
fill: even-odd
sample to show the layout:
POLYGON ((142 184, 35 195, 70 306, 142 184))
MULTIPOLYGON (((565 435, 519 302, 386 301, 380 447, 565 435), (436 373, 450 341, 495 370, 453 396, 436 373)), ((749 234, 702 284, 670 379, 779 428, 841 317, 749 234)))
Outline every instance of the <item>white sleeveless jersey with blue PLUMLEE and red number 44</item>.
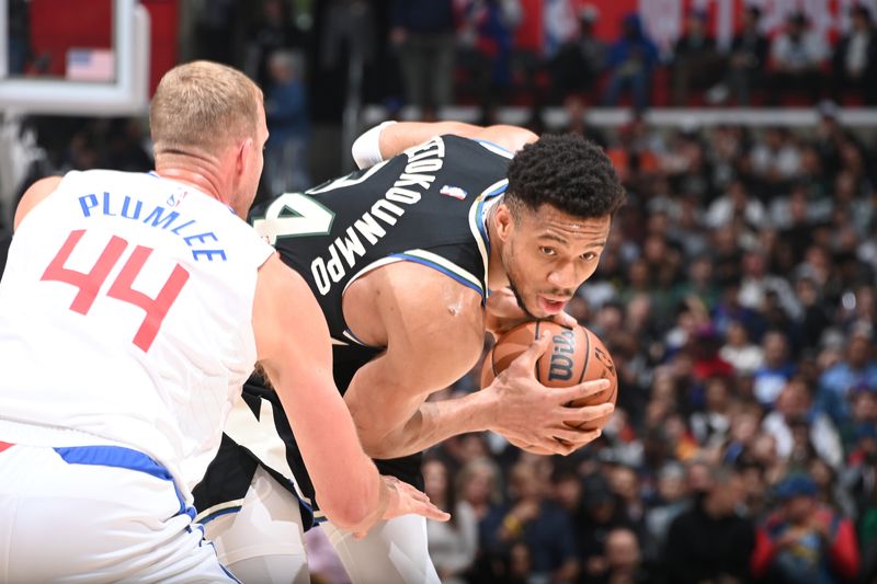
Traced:
POLYGON ((191 489, 255 363, 271 253, 187 185, 70 172, 22 221, 0 283, 0 419, 121 442, 191 489))

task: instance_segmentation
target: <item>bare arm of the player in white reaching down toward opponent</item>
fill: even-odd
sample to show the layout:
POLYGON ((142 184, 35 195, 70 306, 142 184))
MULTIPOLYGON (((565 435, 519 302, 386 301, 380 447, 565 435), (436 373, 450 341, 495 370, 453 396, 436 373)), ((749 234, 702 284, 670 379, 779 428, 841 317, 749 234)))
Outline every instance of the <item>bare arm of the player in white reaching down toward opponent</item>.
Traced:
POLYGON ((253 308, 259 362, 295 431, 320 507, 343 529, 365 534, 408 513, 449 516, 410 485, 380 477, 356 437, 334 386, 329 330, 307 284, 273 255, 259 270, 253 308))

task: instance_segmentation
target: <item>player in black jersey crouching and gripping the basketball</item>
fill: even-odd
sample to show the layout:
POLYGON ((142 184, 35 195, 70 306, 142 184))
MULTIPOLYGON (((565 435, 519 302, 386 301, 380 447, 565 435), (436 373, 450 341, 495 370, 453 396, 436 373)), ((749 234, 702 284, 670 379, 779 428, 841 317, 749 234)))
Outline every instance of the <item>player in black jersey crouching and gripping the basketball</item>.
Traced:
MULTIPOLYGON (((475 365, 486 330, 561 318, 596 268, 624 197, 606 156, 578 138, 537 140, 511 126, 400 123, 363 135, 354 157, 367 168, 282 194, 250 220, 317 297, 337 385, 380 471, 420 485, 421 450, 467 432, 490 430, 539 454, 593 440, 599 431, 563 422, 602 417, 612 405, 563 404, 604 381, 540 386, 532 371, 546 340, 481 391, 426 398, 475 365)), ((238 577, 282 580, 284 562, 304 561, 298 502, 307 515, 319 493, 274 392, 250 382, 244 400, 196 504, 238 577)), ((323 527, 354 582, 438 581, 422 518, 399 517, 362 540, 323 527)))

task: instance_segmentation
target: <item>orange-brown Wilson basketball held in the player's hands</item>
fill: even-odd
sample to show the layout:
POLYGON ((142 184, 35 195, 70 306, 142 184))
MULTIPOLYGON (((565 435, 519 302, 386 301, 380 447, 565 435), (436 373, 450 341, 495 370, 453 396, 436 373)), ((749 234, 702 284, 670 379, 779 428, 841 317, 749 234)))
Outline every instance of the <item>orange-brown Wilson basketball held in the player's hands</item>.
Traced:
MULTIPOLYGON (((525 322, 500 336, 485 357, 481 387, 489 386, 493 378, 505 370, 546 330, 551 333, 551 341, 548 350, 536 362, 536 379, 546 387, 569 387, 582 381, 608 379, 610 387, 604 391, 568 405, 615 403, 618 397, 618 377, 603 342, 584 327, 568 329, 551 321, 525 322)), ((578 425, 570 422, 569 425, 583 428, 603 427, 607 421, 608 416, 604 416, 578 425)))

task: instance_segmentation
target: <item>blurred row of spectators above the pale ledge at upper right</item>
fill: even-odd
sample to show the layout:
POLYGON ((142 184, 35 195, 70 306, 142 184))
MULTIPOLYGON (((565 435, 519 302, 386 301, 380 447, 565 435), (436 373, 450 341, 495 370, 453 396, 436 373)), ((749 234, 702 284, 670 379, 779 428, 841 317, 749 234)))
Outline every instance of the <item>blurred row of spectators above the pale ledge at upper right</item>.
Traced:
POLYGON ((595 33, 599 2, 578 0, 400 0, 389 39, 407 103, 425 117, 463 102, 532 105, 581 99, 593 105, 778 105, 877 100, 874 14, 853 4, 834 38, 804 12, 767 31, 743 4, 730 43, 693 10, 682 34, 660 44, 630 13, 615 38, 595 33), (533 22, 542 30, 531 31, 533 22), (526 30, 524 30, 526 28, 526 30), (456 88, 456 95, 454 90, 456 88))

